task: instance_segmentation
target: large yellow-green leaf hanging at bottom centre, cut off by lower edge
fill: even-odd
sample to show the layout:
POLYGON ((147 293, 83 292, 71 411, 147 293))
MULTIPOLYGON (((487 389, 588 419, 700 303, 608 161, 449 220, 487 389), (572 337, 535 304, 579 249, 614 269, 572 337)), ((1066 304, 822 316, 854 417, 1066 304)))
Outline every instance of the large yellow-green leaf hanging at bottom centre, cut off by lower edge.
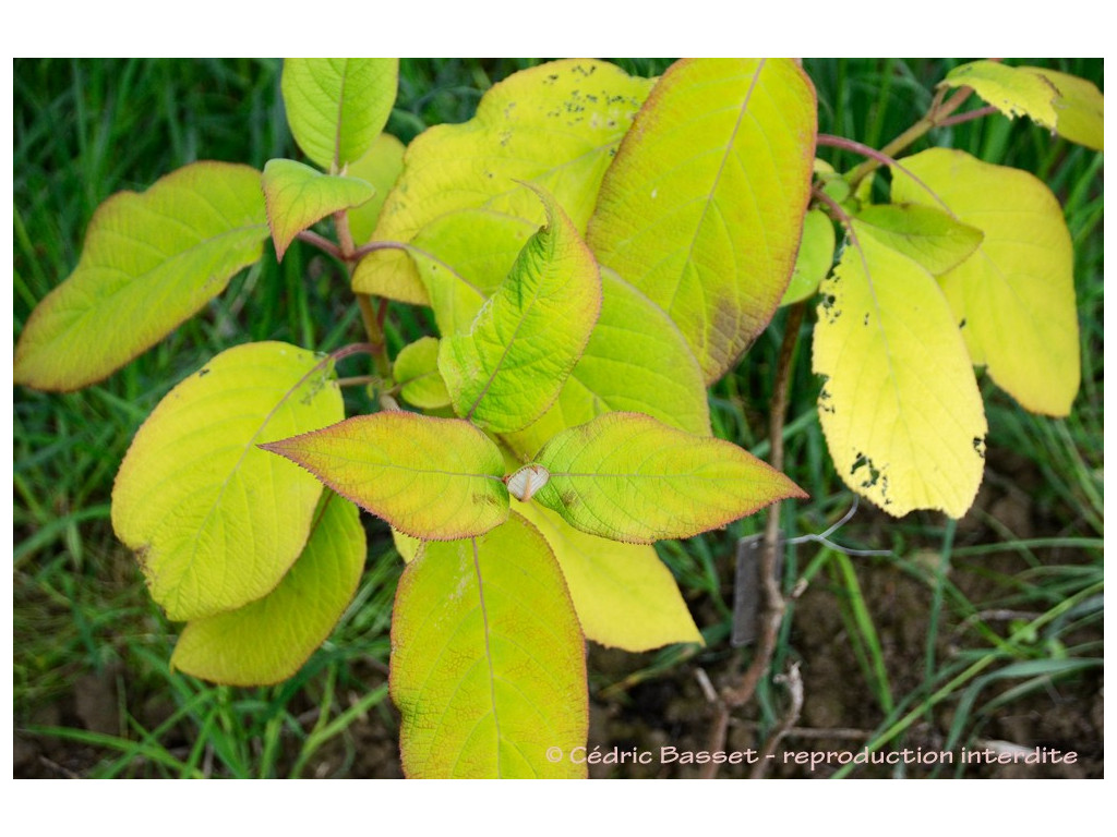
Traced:
POLYGON ((391 665, 408 777, 585 776, 570 758, 589 727, 582 632, 546 540, 518 514, 408 565, 391 665))

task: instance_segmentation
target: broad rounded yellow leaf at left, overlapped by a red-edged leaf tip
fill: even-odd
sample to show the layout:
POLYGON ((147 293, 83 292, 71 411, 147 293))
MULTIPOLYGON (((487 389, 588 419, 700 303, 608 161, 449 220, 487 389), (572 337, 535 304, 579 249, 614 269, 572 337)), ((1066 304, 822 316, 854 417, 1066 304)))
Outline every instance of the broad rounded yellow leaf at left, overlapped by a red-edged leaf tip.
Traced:
POLYGON ((298 558, 322 485, 257 444, 336 422, 328 365, 284 343, 222 352, 160 402, 113 487, 113 529, 173 620, 270 593, 298 558))

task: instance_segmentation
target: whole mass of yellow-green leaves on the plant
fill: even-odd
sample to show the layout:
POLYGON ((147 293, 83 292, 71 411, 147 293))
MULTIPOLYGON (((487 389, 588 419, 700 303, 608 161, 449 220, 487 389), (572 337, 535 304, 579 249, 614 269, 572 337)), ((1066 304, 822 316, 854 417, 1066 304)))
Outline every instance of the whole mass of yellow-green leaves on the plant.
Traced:
MULTIPOLYGON (((944 84, 1100 146, 1096 90, 1006 70, 944 84)), ((541 65, 405 153, 382 133, 397 85, 394 60, 288 61, 287 118, 313 165, 197 163, 114 196, 20 336, 17 383, 69 391, 159 343, 268 238, 280 260, 303 240, 351 273, 366 343, 221 353, 125 458, 113 525, 189 623, 183 671, 290 676, 356 589, 361 507, 409 558, 392 662, 408 772, 577 775, 543 751, 584 741, 584 638, 700 639, 640 545, 803 496, 713 437, 706 401, 781 304, 819 292, 830 453, 891 513, 973 501, 973 365, 1029 408, 1069 410, 1070 238, 1030 175, 945 150, 870 154, 891 170, 875 204, 871 172, 814 160, 814 89, 791 61, 685 60, 659 79, 541 65), (441 337, 391 359, 388 299, 429 306, 441 337), (364 354, 379 410, 344 419, 335 364, 364 354), (632 613, 648 615, 634 631, 632 613)))

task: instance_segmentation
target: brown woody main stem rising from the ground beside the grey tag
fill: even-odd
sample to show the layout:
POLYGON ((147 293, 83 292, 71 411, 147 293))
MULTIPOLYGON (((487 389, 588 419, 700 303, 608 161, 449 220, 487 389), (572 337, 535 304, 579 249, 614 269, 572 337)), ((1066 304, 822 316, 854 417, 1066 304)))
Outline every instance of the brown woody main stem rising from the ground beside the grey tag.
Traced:
MULTIPOLYGON (((805 310, 805 302, 796 302, 791 307, 783 333, 783 344, 780 346, 780 357, 776 362, 772 410, 768 416, 768 440, 772 446, 772 466, 777 471, 783 471, 783 424, 784 412, 787 410, 787 391, 791 383, 791 360, 795 354, 795 345, 799 341, 799 330, 803 324, 805 310)), ((764 609, 760 615, 756 654, 753 656, 748 668, 741 676, 737 685, 722 692, 722 700, 717 706, 717 714, 707 748, 710 751, 725 749, 725 738, 729 728, 732 711, 752 699, 775 653, 776 635, 779 634, 780 623, 783 620, 783 614, 786 609, 783 595, 780 590, 780 580, 776 578, 781 507, 781 502, 774 502, 768 507, 767 521, 764 527, 764 550, 761 552, 760 562, 764 609)), ((794 723, 794 719, 791 723, 794 723)), ((704 769, 703 778, 713 779, 717 776, 717 771, 718 766, 712 762, 704 769)))

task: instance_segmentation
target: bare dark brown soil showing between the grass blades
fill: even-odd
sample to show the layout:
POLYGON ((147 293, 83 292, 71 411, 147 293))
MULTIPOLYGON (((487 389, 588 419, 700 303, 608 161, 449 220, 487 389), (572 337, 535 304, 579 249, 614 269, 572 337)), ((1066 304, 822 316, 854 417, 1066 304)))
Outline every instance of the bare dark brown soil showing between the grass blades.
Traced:
MULTIPOLYGON (((991 526, 1002 526, 1019 537, 1041 537, 1056 533, 1059 523, 1044 519, 1033 508, 1031 489, 1039 479, 1032 466, 1010 452, 991 451, 990 471, 1001 479, 986 479, 975 504, 975 511, 960 521, 956 543, 987 542, 1000 539, 991 526)), ((862 543, 887 543, 888 528, 895 521, 871 509, 862 509, 847 533, 856 532, 862 543)), ((840 537, 840 536, 839 536, 840 537)), ((927 546, 926 566, 932 573, 938 560, 934 546, 927 546)), ((907 554, 915 556, 918 548, 907 554)), ((1043 554, 1039 554, 1043 557, 1043 554)), ((1052 557, 1053 559, 1054 557, 1052 557)), ((1060 564, 1073 558, 1059 555, 1060 564)), ((1085 560, 1085 557, 1082 557, 1085 560)), ((726 561, 723 589, 731 590, 733 579, 726 561)), ((885 559, 855 558, 857 578, 880 636, 888 680, 892 694, 903 698, 918 690, 924 676, 925 645, 929 614, 933 607, 932 586, 899 566, 885 559)), ((1013 554, 1000 554, 981 559, 980 566, 957 565, 951 580, 978 608, 992 596, 1003 595, 1003 587, 992 580, 1019 574, 1028 565, 1013 554), (980 571, 978 571, 980 570, 980 571)), ((861 752, 865 742, 878 728, 885 712, 865 689, 866 677, 855 654, 846 622, 842 618, 838 590, 820 574, 794 606, 791 646, 793 660, 802 679, 803 703, 798 720, 775 747, 773 758, 764 766, 765 775, 784 778, 824 778, 838 769, 839 759, 861 752), (829 763, 825 761, 829 754, 829 763), (811 763, 813 760, 814 763, 811 763)), ((732 597, 731 597, 732 598, 732 597)), ((713 605, 704 599, 689 603, 699 625, 717 620, 713 605)), ((945 610, 944 610, 945 613, 945 610)), ((1008 617, 1001 634, 1010 631, 1008 617)), ((936 658, 951 660, 963 648, 981 647, 982 639, 967 635, 970 628, 954 622, 939 625, 936 658)), ((1101 641, 1100 625, 1073 642, 1101 641)), ((705 676, 719 689, 739 677, 747 654, 723 647, 701 650, 689 660, 657 672, 658 655, 631 654, 590 643, 591 714, 589 742, 599 759, 590 766, 593 778, 697 778, 700 764, 682 763, 663 758, 667 752, 698 752, 709 749, 714 706, 704 690, 705 676), (645 756, 645 753, 648 753, 645 756), (640 763, 640 759, 645 763, 640 763)), ((101 676, 80 675, 73 687, 59 699, 39 706, 26 722, 36 725, 68 727, 115 733, 120 723, 120 683, 125 675, 109 668, 101 676)), ((384 682, 384 672, 369 666, 356 673, 370 689, 384 682)), ((953 763, 944 764, 943 751, 957 710, 956 698, 933 709, 929 715, 911 725, 906 734, 881 750, 908 763, 870 763, 858 769, 856 777, 924 778, 1099 778, 1102 776, 1102 685, 1101 668, 1061 680, 1046 690, 1006 702, 987 716, 977 714, 977 727, 967 727, 970 763, 961 763, 961 748, 953 753, 953 763), (974 754, 974 752, 976 754, 974 754), (1052 761, 1058 751, 1060 760, 1052 761), (1075 753, 1068 763, 1067 754, 1075 753), (1030 759, 1025 761, 1025 756, 1030 759), (1030 763, 1041 759, 1043 763, 1030 763)), ((994 681, 986 685, 976 702, 982 706, 999 693, 1019 683, 1015 680, 994 681)), ((147 729, 169 716, 168 699, 139 696, 128 690, 140 705, 126 709, 147 729)), ((768 703, 784 712, 785 692, 771 692, 768 703)), ((313 706, 305 708, 307 713, 313 706)), ((20 719, 23 721, 23 719, 20 719)), ((758 716, 757 701, 737 712, 729 724, 726 751, 758 751, 767 730, 777 719, 758 716)), ((321 778, 362 777, 400 778, 398 758, 398 719, 386 703, 381 712, 370 712, 349 730, 345 741, 335 739, 314 757, 304 776, 321 778)), ((173 750, 189 750, 190 742, 168 740, 173 750)), ((22 778, 80 777, 103 758, 97 748, 46 737, 27 737, 17 732, 15 739, 15 775, 22 778)), ((865 757, 862 757, 865 758, 865 757)), ((719 768, 723 778, 745 777, 748 763, 727 763, 719 768)))

